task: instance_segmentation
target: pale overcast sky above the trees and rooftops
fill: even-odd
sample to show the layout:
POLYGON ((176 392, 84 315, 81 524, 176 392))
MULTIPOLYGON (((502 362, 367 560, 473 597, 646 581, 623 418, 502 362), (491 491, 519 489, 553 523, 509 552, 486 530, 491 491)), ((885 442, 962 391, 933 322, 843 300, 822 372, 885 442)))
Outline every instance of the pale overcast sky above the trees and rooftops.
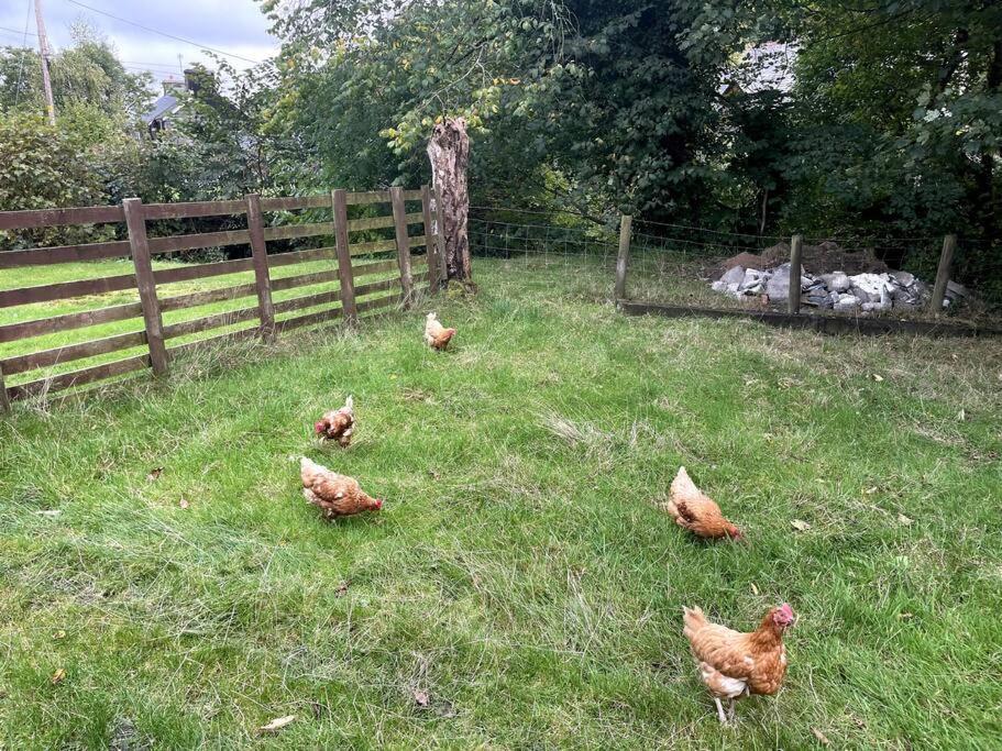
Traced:
MULTIPOLYGON (((79 0, 77 3, 42 0, 42 8, 49 44, 54 49, 69 45, 70 25, 77 20, 85 20, 107 36, 126 68, 150 70, 158 81, 168 75, 180 74, 178 54, 184 56, 185 65, 209 60, 199 46, 161 36, 96 11, 251 60, 263 60, 278 51, 277 40, 267 33, 268 20, 253 0, 79 0)), ((25 38, 25 19, 27 44, 37 46, 31 0, 0 0, 0 45, 21 44, 25 38)), ((251 65, 238 57, 228 59, 236 68, 251 65)))

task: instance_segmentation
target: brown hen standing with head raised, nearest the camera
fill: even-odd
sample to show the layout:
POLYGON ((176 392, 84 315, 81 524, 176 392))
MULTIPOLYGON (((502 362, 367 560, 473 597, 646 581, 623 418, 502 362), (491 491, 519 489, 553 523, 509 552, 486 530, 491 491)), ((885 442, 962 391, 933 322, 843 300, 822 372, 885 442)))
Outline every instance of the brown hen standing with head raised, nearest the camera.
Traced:
POLYGON ((700 608, 682 608, 683 636, 700 663, 700 676, 713 694, 717 717, 727 722, 720 699, 730 699, 728 715, 734 719, 734 700, 741 694, 775 694, 786 675, 786 648, 783 632, 794 621, 793 609, 783 604, 766 614, 751 633, 731 631, 706 620, 700 608))

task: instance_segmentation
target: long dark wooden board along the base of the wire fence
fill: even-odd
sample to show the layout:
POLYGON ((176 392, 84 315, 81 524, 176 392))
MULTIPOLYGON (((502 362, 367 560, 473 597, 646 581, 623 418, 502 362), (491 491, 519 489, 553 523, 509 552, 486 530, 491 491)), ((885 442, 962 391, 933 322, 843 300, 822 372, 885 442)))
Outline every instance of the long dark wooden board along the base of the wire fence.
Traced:
POLYGON ((968 327, 938 321, 910 321, 889 318, 860 318, 859 316, 791 316, 774 311, 723 310, 718 308, 686 308, 656 302, 619 300, 619 309, 627 316, 656 314, 667 318, 741 318, 769 325, 792 329, 811 329, 825 334, 922 334, 926 336, 1002 336, 1002 329, 968 327))

